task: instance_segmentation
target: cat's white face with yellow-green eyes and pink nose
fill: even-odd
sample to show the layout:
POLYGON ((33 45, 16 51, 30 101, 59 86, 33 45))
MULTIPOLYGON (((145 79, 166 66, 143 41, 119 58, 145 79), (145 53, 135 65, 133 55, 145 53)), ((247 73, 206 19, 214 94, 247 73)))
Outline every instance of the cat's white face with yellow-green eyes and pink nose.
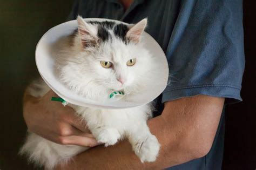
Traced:
POLYGON ((95 81, 108 89, 124 90, 139 82, 149 55, 134 44, 126 45, 116 40, 100 45, 89 57, 93 59, 86 60, 87 67, 93 72, 95 81))

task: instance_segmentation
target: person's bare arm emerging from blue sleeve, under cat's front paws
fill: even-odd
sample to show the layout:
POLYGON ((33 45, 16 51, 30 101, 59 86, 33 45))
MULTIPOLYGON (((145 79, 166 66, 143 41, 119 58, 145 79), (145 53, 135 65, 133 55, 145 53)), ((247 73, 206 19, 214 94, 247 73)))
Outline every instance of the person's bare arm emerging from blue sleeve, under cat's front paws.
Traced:
POLYGON ((210 151, 224 98, 195 96, 167 101, 163 113, 148 125, 161 144, 155 162, 142 162, 129 142, 97 146, 57 169, 163 169, 203 157, 210 151))

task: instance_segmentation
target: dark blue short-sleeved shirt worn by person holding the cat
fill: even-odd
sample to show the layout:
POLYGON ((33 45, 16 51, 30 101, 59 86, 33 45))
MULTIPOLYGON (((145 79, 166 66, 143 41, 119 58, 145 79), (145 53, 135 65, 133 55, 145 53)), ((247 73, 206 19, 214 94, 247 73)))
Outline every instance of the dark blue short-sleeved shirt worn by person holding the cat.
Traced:
MULTIPOLYGON (((75 1, 69 19, 109 18, 137 23, 148 18, 148 32, 164 50, 170 84, 156 99, 157 112, 165 101, 205 94, 241 101, 244 42, 241 0, 134 0, 124 10, 117 0, 75 1)), ((203 158, 167 169, 221 169, 224 111, 211 151, 203 158)))

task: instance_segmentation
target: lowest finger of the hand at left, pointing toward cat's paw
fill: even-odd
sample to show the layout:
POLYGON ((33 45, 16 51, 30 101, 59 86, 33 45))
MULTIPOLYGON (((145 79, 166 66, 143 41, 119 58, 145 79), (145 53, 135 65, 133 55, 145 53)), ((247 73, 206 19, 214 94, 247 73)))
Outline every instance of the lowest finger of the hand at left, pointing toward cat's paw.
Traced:
POLYGON ((60 143, 64 145, 78 145, 78 146, 87 146, 93 147, 99 145, 95 138, 80 137, 72 135, 69 137, 60 138, 60 143))

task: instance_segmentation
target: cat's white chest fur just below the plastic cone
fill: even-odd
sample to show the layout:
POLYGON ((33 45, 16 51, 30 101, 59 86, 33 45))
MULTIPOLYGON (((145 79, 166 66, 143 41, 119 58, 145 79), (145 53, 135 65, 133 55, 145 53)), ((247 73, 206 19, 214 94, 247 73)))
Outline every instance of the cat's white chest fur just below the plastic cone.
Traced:
POLYGON ((136 124, 146 121, 151 117, 151 104, 146 104, 125 109, 90 108, 70 105, 79 117, 86 121, 87 127, 93 129, 94 125, 111 126, 117 128, 120 133, 125 133, 136 124))

